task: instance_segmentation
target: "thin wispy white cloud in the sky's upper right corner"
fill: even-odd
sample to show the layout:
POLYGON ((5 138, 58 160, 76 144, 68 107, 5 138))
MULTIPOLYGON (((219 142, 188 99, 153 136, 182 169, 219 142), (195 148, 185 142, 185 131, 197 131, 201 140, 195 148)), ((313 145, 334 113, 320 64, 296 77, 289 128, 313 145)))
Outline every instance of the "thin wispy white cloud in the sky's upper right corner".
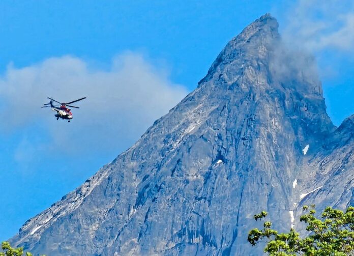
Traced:
POLYGON ((354 2, 299 0, 286 12, 284 37, 310 51, 354 51, 354 2))

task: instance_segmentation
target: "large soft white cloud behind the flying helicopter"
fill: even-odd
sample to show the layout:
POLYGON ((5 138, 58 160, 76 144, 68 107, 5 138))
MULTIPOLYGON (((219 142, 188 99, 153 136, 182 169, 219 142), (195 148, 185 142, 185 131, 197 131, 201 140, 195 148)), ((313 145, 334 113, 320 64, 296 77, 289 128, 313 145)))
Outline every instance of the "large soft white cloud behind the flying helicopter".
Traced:
POLYGON ((69 151, 128 147, 186 94, 164 70, 132 52, 114 58, 109 71, 72 56, 25 68, 10 65, 0 77, 0 119, 6 120, 0 129, 39 127, 52 135, 48 144, 69 151), (72 109, 69 124, 56 121, 50 108, 40 108, 48 96, 66 102, 87 99, 76 103, 80 109, 72 109))

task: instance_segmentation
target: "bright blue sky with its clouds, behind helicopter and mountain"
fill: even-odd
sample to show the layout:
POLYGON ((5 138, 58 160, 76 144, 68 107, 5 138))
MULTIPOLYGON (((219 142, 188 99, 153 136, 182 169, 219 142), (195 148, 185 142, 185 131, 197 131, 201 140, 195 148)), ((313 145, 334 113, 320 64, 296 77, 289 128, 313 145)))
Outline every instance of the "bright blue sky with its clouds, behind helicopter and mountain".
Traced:
POLYGON ((339 125, 354 113, 350 1, 1 1, 0 240, 129 148, 268 12, 316 56, 339 125), (68 124, 47 96, 87 99, 68 124))

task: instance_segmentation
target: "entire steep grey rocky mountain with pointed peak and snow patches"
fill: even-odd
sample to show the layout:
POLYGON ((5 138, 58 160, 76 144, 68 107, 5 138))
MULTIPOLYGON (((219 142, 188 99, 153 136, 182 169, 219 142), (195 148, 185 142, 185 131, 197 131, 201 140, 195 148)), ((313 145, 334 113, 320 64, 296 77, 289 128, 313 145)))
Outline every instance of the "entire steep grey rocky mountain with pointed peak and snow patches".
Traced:
POLYGON ((247 26, 195 91, 11 242, 47 255, 258 255, 254 214, 289 231, 304 204, 353 205, 354 118, 332 124, 277 29, 270 15, 247 26))

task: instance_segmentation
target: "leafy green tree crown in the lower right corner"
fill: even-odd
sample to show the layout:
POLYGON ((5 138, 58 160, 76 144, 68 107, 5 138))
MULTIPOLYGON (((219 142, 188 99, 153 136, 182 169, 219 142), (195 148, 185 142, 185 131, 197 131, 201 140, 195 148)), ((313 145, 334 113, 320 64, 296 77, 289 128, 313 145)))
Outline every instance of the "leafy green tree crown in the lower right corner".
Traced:
MULTIPOLYGON (((314 207, 314 206, 311 206, 314 207)), ((304 206, 304 211, 309 207, 304 206)), ((263 229, 253 229, 248 234, 248 242, 255 246, 259 242, 267 245, 264 252, 269 255, 309 255, 309 256, 345 256, 354 254, 354 207, 348 207, 345 212, 327 207, 317 219, 316 211, 311 209, 300 217, 307 224, 309 235, 301 238, 294 229, 289 233, 278 234, 271 229, 272 223, 265 221, 263 229), (265 241, 263 241, 265 240, 265 241)), ((267 212, 254 215, 255 220, 261 220, 267 212)))

